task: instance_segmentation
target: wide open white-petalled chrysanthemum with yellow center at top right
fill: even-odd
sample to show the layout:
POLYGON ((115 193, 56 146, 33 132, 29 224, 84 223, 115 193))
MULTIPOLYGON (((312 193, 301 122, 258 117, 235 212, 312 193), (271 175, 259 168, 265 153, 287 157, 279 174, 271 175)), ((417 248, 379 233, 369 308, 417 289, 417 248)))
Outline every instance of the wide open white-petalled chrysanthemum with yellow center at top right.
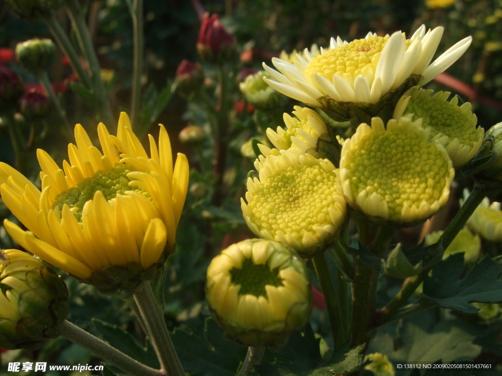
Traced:
POLYGON ((379 37, 368 33, 350 43, 331 38, 330 47, 312 56, 305 51, 293 62, 273 58, 277 71, 264 64, 274 80, 265 81, 277 91, 314 107, 323 102, 374 104, 400 87, 412 75, 425 85, 452 65, 469 47, 472 38, 456 43, 431 63, 443 28, 426 31, 422 25, 410 39, 402 32, 379 37))

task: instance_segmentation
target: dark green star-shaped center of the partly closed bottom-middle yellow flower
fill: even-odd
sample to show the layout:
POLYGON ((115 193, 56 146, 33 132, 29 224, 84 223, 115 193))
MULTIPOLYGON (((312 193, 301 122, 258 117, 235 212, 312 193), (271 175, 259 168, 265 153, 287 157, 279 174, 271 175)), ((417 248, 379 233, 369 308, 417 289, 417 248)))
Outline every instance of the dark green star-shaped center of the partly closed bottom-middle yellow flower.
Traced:
POLYGON ((267 297, 266 285, 282 286, 279 268, 270 270, 268 265, 256 265, 251 259, 245 259, 240 269, 230 270, 232 284, 240 285, 239 295, 252 294, 267 297))

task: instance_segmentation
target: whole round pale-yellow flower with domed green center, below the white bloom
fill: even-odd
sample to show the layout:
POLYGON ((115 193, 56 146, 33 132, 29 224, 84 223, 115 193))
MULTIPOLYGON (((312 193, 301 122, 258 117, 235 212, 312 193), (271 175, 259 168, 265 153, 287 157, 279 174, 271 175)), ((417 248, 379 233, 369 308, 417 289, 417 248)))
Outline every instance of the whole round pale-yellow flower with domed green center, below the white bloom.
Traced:
POLYGON ((421 120, 380 118, 360 124, 344 141, 343 194, 350 206, 375 220, 414 224, 448 200, 454 169, 444 147, 428 140, 421 120))

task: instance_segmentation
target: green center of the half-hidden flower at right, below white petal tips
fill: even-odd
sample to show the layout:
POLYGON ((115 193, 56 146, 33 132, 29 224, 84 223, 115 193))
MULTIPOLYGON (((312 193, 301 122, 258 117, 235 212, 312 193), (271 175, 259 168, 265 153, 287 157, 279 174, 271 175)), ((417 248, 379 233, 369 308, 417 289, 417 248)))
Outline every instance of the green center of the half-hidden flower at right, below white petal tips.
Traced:
POLYGON ((430 138, 444 134, 449 138, 458 138, 462 144, 469 146, 479 141, 479 131, 472 126, 472 112, 462 111, 460 107, 441 98, 411 98, 406 113, 413 113, 413 120, 421 117, 424 126, 431 127, 430 138))

